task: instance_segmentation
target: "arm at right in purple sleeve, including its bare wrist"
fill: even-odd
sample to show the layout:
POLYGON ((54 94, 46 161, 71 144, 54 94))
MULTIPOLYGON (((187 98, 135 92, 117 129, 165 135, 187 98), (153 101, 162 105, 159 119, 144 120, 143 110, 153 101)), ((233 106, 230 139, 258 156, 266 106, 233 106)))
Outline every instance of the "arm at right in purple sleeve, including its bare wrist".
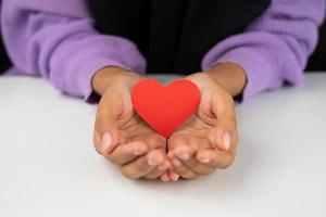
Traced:
POLYGON ((243 34, 213 47, 202 68, 233 95, 242 92, 243 99, 284 82, 297 85, 315 49, 324 13, 325 0, 273 0, 243 34))

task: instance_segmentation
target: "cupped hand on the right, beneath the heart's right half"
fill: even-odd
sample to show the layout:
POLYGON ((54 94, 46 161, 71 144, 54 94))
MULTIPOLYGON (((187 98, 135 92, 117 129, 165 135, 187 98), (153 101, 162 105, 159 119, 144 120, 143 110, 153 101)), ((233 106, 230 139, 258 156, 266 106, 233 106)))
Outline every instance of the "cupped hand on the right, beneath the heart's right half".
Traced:
POLYGON ((167 141, 172 180, 193 179, 228 167, 236 154, 238 131, 233 97, 208 73, 192 74, 201 91, 198 112, 167 141))

